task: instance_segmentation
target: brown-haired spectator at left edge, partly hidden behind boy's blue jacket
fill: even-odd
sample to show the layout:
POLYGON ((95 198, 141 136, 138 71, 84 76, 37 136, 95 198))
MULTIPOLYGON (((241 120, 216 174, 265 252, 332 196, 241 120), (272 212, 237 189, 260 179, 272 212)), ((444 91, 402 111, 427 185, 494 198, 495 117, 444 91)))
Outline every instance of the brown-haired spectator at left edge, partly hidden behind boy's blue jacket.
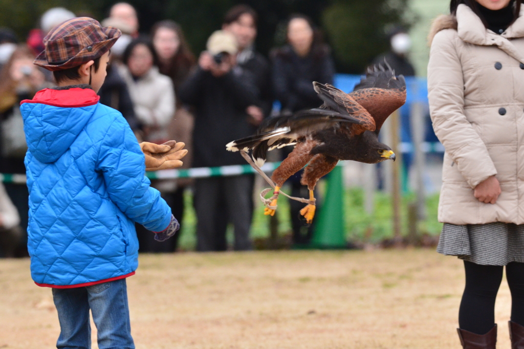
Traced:
MULTIPOLYGON (((32 98, 45 87, 45 75, 33 64, 29 47, 18 45, 0 71, 0 173, 25 174, 27 145, 20 101, 32 98)), ((20 215, 23 238, 17 256, 27 255, 27 212, 29 193, 25 184, 5 183, 5 189, 20 215)))

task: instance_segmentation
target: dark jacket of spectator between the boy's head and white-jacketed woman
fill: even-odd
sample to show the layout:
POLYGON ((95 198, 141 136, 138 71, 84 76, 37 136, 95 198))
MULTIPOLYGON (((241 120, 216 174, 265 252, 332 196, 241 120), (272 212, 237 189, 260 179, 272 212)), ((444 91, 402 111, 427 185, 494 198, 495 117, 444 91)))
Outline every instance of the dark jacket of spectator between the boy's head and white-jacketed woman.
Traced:
POLYGON ((100 103, 121 112, 133 131, 141 127, 127 85, 116 67, 107 67, 107 76, 98 94, 100 103))

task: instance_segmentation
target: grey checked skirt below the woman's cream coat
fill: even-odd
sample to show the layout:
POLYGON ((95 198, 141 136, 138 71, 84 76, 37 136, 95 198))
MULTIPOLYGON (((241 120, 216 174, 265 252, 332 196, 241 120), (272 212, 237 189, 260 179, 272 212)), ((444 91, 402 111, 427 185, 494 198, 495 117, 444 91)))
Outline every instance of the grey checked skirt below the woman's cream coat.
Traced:
POLYGON ((524 263, 524 224, 444 223, 437 252, 482 265, 524 263))

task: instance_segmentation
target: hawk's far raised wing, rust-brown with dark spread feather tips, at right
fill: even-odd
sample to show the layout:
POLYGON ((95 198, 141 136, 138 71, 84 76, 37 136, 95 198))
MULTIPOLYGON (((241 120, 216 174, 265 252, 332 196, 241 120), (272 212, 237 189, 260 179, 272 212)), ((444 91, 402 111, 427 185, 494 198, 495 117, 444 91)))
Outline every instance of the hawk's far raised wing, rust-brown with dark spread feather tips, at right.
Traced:
POLYGON ((378 134, 387 117, 406 103, 406 80, 395 76, 389 64, 369 68, 350 96, 375 119, 378 134))

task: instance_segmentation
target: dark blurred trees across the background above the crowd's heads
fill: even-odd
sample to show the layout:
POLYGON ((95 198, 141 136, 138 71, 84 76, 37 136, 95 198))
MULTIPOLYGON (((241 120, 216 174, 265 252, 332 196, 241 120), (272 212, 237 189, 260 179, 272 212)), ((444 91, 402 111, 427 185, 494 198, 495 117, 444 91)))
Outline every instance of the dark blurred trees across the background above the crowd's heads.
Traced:
MULTIPOLYGON (((20 39, 39 25, 45 10, 62 6, 76 14, 91 14, 98 20, 108 15, 118 0, 0 0, 0 26, 14 29, 20 39)), ((408 0, 128 0, 135 6, 140 31, 148 32, 158 20, 178 21, 193 51, 198 54, 213 30, 233 5, 244 3, 259 14, 257 48, 267 53, 285 42, 286 19, 300 12, 321 24, 326 41, 333 47, 340 72, 361 73, 366 65, 388 48, 385 28, 406 25, 408 0)))

